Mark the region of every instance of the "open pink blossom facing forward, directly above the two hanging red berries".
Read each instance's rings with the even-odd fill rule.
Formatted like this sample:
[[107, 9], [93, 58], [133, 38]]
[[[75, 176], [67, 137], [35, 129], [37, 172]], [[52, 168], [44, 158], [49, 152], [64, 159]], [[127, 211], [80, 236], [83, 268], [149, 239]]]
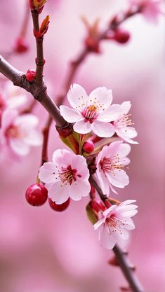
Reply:
[[67, 150], [56, 150], [53, 162], [46, 162], [39, 169], [39, 179], [48, 183], [48, 197], [56, 204], [62, 204], [69, 197], [74, 201], [86, 197], [91, 186], [86, 159]]

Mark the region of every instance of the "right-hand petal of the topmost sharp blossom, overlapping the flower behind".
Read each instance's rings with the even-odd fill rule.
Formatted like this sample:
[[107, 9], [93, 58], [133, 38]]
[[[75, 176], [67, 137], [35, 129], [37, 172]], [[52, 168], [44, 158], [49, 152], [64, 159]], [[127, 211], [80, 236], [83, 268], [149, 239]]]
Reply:
[[102, 122], [112, 122], [121, 116], [121, 106], [119, 104], [112, 104], [105, 111], [102, 111], [97, 120]]

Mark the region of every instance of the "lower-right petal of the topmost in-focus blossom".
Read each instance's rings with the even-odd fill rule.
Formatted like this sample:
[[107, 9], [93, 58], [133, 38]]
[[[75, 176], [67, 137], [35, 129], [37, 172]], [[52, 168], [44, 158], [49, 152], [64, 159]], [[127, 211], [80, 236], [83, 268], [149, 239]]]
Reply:
[[98, 137], [112, 137], [114, 134], [114, 126], [111, 123], [103, 123], [99, 120], [93, 122], [92, 130]]

